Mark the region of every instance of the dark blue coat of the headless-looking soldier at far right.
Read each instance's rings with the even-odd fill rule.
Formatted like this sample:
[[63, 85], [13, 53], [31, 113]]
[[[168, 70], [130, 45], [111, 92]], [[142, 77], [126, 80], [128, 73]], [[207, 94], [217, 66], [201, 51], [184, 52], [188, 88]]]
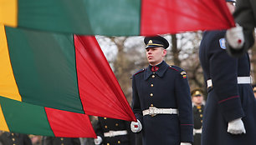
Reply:
[[[205, 79], [212, 79], [203, 112], [202, 145], [256, 143], [256, 100], [248, 84], [238, 77], [250, 76], [248, 54], [235, 58], [225, 51], [225, 31], [204, 32], [199, 49]], [[246, 134], [227, 132], [228, 122], [243, 117]]]

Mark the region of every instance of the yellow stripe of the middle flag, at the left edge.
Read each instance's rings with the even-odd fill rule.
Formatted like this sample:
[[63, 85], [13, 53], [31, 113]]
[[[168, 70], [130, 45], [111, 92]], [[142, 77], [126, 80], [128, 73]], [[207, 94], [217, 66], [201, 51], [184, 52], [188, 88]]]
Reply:
[[13, 75], [5, 29], [0, 24], [0, 96], [22, 101]]

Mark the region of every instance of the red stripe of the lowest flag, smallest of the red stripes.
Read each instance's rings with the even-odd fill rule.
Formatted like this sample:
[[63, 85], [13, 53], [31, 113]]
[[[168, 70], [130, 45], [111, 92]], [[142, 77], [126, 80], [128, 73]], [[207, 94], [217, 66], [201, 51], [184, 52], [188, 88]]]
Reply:
[[55, 137], [96, 138], [88, 115], [44, 107]]

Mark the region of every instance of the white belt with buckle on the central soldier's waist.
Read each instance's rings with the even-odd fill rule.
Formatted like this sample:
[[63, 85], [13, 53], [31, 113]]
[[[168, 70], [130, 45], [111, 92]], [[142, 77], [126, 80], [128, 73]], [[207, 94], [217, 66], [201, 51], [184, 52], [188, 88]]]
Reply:
[[151, 115], [155, 116], [157, 114], [177, 114], [178, 110], [176, 108], [157, 108], [157, 107], [149, 107], [146, 110], [142, 111], [143, 116]]

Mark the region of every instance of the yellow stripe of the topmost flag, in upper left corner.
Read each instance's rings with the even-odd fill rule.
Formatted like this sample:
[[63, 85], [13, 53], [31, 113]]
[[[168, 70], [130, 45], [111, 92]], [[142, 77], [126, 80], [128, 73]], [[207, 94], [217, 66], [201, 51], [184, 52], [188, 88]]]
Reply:
[[17, 0], [0, 0], [0, 23], [11, 27], [17, 27], [17, 15]]

